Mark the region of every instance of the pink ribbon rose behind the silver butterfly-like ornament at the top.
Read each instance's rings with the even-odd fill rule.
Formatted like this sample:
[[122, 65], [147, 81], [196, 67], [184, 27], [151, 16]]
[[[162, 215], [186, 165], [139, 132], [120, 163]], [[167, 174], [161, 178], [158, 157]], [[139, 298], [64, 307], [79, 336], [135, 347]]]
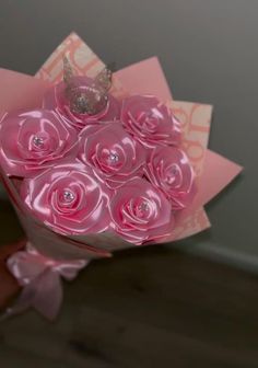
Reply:
[[[97, 122], [119, 119], [119, 102], [112, 94], [103, 97], [95, 96], [94, 80], [87, 77], [73, 77], [73, 83], [77, 91], [71, 97], [69, 97], [67, 85], [63, 82], [50, 88], [44, 97], [44, 107], [57, 111], [69, 124], [78, 129], [82, 129], [89, 124], [96, 124]], [[95, 104], [96, 114], [77, 111], [77, 108], [80, 110], [79, 107], [83, 111], [83, 104], [87, 97], [91, 101], [97, 99]], [[75, 106], [77, 108], [74, 108]]]

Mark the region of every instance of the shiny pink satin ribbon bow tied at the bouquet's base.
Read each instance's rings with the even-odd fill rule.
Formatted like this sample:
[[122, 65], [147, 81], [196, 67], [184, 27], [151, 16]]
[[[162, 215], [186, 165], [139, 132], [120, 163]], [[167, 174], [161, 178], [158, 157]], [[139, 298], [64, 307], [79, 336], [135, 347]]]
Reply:
[[23, 290], [16, 303], [9, 308], [2, 319], [35, 308], [40, 314], [54, 320], [62, 303], [61, 277], [73, 280], [90, 261], [55, 261], [39, 254], [32, 244], [14, 253], [7, 262], [11, 274]]

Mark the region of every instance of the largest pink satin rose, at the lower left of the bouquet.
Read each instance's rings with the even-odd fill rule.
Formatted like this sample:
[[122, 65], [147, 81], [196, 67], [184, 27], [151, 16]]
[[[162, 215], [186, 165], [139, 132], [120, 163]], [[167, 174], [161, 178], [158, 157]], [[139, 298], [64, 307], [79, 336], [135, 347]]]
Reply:
[[21, 197], [38, 220], [58, 233], [98, 233], [110, 222], [107, 188], [79, 161], [24, 180]]

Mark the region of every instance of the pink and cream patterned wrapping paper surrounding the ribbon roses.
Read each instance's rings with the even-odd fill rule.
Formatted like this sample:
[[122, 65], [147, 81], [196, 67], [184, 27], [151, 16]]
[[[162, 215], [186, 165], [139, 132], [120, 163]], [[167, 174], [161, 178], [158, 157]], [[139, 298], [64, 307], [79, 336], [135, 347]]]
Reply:
[[[72, 68], [78, 74], [94, 77], [104, 68], [103, 61], [73, 33], [43, 65], [36, 73], [36, 78], [0, 69], [1, 87], [3, 87], [0, 90], [0, 116], [7, 111], [20, 107], [32, 110], [40, 106], [46, 89], [50, 83], [57, 83], [62, 79], [63, 54], [69, 57]], [[242, 170], [236, 163], [207, 149], [212, 106], [173, 100], [156, 57], [116, 72], [112, 93], [118, 97], [130, 94], [154, 94], [173, 108], [183, 124], [183, 148], [197, 173], [198, 194], [192, 205], [181, 211], [177, 226], [166, 242], [184, 239], [209, 228], [210, 221], [203, 206]], [[54, 233], [28, 216], [23, 208], [14, 183], [5, 177], [4, 173], [1, 175], [26, 235], [39, 253], [55, 260], [92, 260], [110, 256], [112, 251], [132, 246], [110, 233], [86, 237], [63, 237]], [[17, 289], [17, 285], [13, 283], [13, 287], [8, 289], [11, 295]], [[7, 295], [9, 296], [9, 292]], [[3, 300], [0, 300], [0, 304], [2, 302]]]

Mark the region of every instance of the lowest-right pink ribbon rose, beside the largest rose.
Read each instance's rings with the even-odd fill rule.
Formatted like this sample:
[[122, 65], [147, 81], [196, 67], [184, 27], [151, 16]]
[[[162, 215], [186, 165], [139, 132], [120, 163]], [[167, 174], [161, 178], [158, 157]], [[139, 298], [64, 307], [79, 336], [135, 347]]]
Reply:
[[169, 200], [146, 180], [132, 179], [112, 198], [112, 227], [137, 245], [165, 238], [174, 229]]

